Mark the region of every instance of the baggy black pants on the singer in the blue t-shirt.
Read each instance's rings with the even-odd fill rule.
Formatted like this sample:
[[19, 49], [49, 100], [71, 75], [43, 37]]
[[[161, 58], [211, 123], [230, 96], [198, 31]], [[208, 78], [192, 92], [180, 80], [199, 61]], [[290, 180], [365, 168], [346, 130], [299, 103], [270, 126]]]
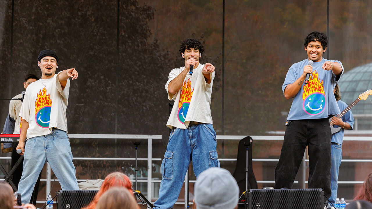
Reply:
[[286, 127], [279, 162], [275, 167], [275, 189], [292, 188], [308, 146], [308, 188], [324, 189], [331, 196], [331, 129], [329, 120], [292, 120]]

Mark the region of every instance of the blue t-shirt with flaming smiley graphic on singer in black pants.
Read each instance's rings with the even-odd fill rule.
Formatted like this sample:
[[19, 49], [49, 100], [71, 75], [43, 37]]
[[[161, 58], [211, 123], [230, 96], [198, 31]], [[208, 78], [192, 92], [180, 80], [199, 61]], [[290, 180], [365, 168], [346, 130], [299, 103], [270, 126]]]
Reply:
[[[323, 70], [322, 65], [325, 61], [340, 63], [342, 73], [336, 76], [332, 70]], [[282, 86], [283, 93], [288, 84], [294, 83], [302, 75], [305, 65], [308, 65], [308, 59], [289, 68]], [[340, 113], [333, 89], [344, 72], [342, 63], [323, 58], [320, 62], [314, 62], [312, 70], [308, 84], [302, 83], [301, 89], [294, 97], [287, 120], [329, 118]]]

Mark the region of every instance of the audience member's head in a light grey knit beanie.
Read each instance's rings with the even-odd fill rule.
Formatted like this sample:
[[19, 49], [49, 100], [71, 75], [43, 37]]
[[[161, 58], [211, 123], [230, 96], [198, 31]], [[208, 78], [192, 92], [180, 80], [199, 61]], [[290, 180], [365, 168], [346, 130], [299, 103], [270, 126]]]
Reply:
[[197, 209], [234, 209], [238, 207], [239, 187], [224, 168], [208, 168], [199, 174], [194, 189]]

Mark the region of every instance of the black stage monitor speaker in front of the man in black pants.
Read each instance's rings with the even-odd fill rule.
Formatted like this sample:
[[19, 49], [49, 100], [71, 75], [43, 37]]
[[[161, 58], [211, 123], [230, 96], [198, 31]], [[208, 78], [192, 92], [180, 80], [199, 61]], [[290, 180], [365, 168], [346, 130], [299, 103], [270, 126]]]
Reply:
[[324, 209], [322, 189], [251, 189], [249, 209]]

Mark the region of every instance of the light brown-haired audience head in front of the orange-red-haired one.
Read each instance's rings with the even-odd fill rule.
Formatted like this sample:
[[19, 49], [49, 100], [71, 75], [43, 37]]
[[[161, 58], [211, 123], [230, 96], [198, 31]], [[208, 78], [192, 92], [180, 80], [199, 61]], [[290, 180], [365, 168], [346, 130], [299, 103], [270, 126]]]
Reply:
[[97, 202], [96, 209], [140, 209], [133, 192], [123, 187], [111, 187]]

